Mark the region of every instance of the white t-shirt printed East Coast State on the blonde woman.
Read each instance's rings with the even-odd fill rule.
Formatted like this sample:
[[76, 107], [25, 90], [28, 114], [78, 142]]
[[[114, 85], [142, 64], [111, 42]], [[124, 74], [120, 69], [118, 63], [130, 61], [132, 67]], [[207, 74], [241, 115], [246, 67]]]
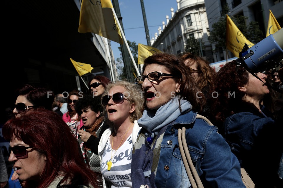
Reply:
[[[111, 169], [107, 170], [107, 162], [111, 160], [110, 137], [106, 143], [101, 160], [101, 174], [105, 180], [112, 183], [111, 187], [132, 187], [131, 161], [132, 161], [132, 135], [118, 148], [112, 151], [113, 160]], [[116, 153], [115, 153], [116, 152]], [[115, 155], [114, 155], [115, 153]]]

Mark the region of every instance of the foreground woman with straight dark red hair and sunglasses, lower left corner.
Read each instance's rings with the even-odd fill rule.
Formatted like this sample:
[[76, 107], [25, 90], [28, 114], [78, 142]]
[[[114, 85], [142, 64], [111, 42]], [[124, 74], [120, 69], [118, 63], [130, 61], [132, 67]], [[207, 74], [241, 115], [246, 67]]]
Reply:
[[13, 118], [3, 126], [3, 136], [24, 187], [97, 187], [96, 174], [72, 149], [77, 141], [56, 113], [39, 109]]

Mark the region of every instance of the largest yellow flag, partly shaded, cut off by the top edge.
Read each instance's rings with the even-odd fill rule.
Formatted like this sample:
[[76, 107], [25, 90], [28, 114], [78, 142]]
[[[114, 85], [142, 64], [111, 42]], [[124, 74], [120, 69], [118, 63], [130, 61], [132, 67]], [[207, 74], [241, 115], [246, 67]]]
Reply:
[[80, 8], [79, 33], [96, 33], [123, 44], [121, 32], [112, 12], [111, 0], [83, 0]]

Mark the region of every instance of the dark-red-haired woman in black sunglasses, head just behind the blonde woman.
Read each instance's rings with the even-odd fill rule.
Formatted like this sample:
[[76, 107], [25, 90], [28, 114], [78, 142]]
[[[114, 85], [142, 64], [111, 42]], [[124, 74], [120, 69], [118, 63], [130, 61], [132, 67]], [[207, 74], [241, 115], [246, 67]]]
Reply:
[[91, 95], [99, 96], [104, 92], [106, 85], [110, 80], [105, 76], [94, 76], [88, 84], [88, 88], [91, 91]]

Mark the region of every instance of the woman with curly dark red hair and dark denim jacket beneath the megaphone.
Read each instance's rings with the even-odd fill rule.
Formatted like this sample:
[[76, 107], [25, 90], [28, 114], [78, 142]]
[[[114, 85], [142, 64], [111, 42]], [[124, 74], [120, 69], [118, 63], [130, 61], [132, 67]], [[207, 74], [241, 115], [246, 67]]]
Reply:
[[[219, 132], [256, 187], [283, 187], [277, 175], [283, 149], [282, 121], [279, 125], [261, 105], [269, 93], [267, 76], [260, 72], [256, 75], [261, 80], [236, 61], [223, 66], [213, 84], [218, 97], [212, 113]], [[274, 150], [270, 150], [272, 145]]]

